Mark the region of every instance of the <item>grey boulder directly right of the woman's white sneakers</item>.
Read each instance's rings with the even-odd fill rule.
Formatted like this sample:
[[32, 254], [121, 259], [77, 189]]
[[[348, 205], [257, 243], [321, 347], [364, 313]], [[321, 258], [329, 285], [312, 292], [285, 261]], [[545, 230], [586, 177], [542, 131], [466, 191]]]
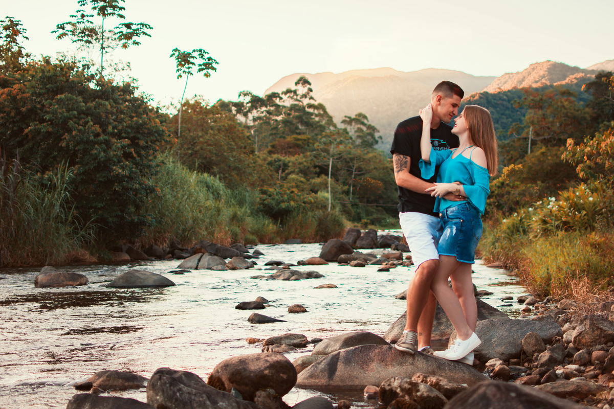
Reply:
[[[475, 357], [480, 362], [493, 358], [509, 361], [520, 357], [523, 338], [529, 332], [537, 332], [544, 343], [551, 343], [554, 337], [562, 337], [559, 324], [551, 315], [539, 315], [533, 319], [486, 319], [478, 321], [475, 333], [481, 345], [475, 349]], [[456, 339], [456, 332], [450, 336], [449, 345]]]

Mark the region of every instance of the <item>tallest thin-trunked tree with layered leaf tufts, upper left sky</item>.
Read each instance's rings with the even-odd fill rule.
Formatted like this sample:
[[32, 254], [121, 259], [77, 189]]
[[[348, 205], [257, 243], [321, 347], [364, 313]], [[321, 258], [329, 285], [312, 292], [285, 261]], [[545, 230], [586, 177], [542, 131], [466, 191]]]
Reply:
[[[53, 34], [58, 33], [58, 40], [69, 37], [73, 43], [82, 47], [99, 47], [100, 75], [103, 75], [104, 55], [109, 53], [109, 49], [113, 51], [118, 47], [126, 49], [131, 45], [140, 45], [139, 37], [151, 37], [146, 30], [153, 28], [146, 23], [120, 23], [113, 29], [104, 29], [107, 18], [126, 19], [122, 14], [126, 8], [120, 6], [120, 2], [123, 3], [124, 0], [77, 0], [79, 7], [91, 6], [95, 14], [87, 14], [84, 9], [79, 9], [70, 16], [71, 21], [56, 25], [52, 31]], [[95, 15], [100, 18], [100, 25], [95, 25], [90, 20]]]

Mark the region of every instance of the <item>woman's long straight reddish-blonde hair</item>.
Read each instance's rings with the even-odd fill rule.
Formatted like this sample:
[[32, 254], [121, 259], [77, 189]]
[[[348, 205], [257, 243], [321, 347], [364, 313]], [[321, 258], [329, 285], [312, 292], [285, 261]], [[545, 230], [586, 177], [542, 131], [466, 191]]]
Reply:
[[488, 174], [496, 175], [499, 167], [499, 153], [491, 113], [488, 109], [478, 105], [467, 105], [462, 111], [462, 115], [465, 117], [465, 124], [467, 124], [473, 144], [482, 148], [486, 154]]

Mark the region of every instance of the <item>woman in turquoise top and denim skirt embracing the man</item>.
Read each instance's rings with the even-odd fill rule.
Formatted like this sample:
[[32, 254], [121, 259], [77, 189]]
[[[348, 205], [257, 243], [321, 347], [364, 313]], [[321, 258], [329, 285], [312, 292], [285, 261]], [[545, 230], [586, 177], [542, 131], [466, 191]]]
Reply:
[[[482, 235], [480, 216], [486, 207], [489, 180], [497, 173], [497, 138], [488, 110], [467, 105], [456, 118], [452, 130], [459, 137], [454, 150], [435, 150], [430, 143], [432, 107], [420, 111], [422, 126], [420, 169], [423, 178], [432, 177], [439, 166], [437, 183], [427, 189], [437, 197], [435, 212], [440, 212], [443, 234], [437, 247], [439, 267], [431, 284], [431, 291], [456, 329], [457, 339], [452, 348], [438, 351], [451, 361], [473, 363], [473, 350], [481, 341], [475, 334], [477, 306], [473, 296], [471, 265], [475, 262], [475, 248]], [[456, 182], [456, 183], [454, 183]], [[460, 183], [460, 184], [459, 184]], [[443, 199], [448, 192], [467, 197], [461, 202]], [[448, 286], [452, 279], [453, 288]]]

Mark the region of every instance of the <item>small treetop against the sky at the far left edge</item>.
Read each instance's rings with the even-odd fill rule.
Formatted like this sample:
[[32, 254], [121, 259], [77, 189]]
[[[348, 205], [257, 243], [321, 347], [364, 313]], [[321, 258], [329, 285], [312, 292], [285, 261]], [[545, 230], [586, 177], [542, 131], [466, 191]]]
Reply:
[[25, 36], [27, 31], [21, 26], [21, 20], [15, 20], [7, 16], [0, 20], [2, 26], [2, 45], [0, 45], [0, 74], [16, 72], [23, 67], [25, 59], [31, 57], [30, 53], [24, 52], [25, 48], [20, 40], [28, 40]]

